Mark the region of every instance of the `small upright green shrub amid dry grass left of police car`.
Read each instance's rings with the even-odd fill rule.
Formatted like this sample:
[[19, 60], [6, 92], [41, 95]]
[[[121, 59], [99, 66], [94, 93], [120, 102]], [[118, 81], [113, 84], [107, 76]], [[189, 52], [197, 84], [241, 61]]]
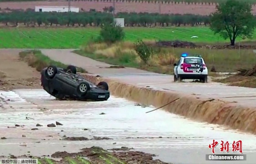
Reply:
[[141, 60], [147, 64], [148, 60], [150, 59], [153, 50], [151, 46], [147, 46], [143, 41], [137, 41], [135, 43], [135, 51], [140, 56]]

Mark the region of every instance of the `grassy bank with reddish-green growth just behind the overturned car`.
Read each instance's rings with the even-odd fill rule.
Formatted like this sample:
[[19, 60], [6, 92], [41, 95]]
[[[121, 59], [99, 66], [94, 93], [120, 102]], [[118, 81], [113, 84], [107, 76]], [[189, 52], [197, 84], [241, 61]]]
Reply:
[[[57, 67], [63, 68], [68, 67], [68, 65], [65, 65], [61, 62], [53, 61], [38, 50], [22, 51], [19, 53], [19, 56], [22, 60], [27, 62], [29, 66], [36, 68], [37, 71], [41, 71], [43, 68], [48, 67], [49, 65], [55, 65]], [[82, 73], [86, 72], [83, 68], [80, 67], [77, 67], [77, 71]]]

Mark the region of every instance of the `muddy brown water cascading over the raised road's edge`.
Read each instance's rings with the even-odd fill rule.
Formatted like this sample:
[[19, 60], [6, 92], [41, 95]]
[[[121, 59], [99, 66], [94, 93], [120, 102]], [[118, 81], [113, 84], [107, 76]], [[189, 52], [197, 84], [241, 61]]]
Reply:
[[172, 91], [137, 87], [109, 78], [91, 75], [85, 75], [85, 77], [94, 83], [108, 82], [112, 95], [124, 97], [143, 105], [161, 107], [179, 98], [162, 109], [193, 120], [225, 125], [233, 129], [256, 134], [256, 108], [238, 106], [232, 104], [232, 102], [214, 98], [199, 98], [196, 95], [184, 95]]

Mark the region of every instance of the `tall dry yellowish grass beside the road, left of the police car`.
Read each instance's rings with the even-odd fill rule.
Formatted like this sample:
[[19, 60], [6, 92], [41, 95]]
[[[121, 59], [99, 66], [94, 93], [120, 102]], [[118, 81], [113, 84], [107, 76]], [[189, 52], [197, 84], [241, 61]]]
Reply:
[[[146, 41], [146, 44], [153, 44], [155, 41]], [[105, 43], [89, 44], [82, 46], [79, 55], [88, 56], [101, 62], [125, 67], [136, 67], [157, 73], [172, 73], [173, 64], [178, 60], [170, 51], [155, 52], [147, 65], [141, 62], [140, 57], [134, 50], [134, 43], [120, 42], [108, 46]]]

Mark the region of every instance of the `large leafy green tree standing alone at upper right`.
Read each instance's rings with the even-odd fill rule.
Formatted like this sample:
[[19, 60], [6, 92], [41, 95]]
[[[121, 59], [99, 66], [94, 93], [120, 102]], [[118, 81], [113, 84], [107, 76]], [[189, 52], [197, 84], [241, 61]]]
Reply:
[[251, 4], [246, 1], [227, 0], [220, 3], [217, 11], [211, 15], [210, 29], [219, 33], [224, 39], [230, 39], [230, 45], [235, 45], [237, 36], [251, 38], [256, 21], [251, 14]]

